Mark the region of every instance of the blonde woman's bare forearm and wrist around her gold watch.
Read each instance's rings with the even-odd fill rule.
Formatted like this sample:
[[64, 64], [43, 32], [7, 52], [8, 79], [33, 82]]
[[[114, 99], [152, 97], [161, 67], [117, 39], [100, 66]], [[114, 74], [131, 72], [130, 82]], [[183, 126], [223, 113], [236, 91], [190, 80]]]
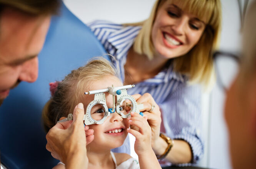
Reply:
[[[165, 152], [168, 144], [165, 140], [159, 137], [155, 145], [152, 146], [156, 155], [160, 156]], [[166, 155], [165, 159], [173, 164], [191, 162], [192, 152], [190, 145], [184, 140], [174, 140], [174, 145]]]

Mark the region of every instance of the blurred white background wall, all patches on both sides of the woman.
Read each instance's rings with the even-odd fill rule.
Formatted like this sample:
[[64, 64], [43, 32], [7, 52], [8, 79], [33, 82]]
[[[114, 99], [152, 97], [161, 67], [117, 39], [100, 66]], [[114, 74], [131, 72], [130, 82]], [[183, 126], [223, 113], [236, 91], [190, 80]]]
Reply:
[[[145, 20], [155, 0], [64, 0], [64, 2], [84, 23], [98, 19], [129, 23]], [[238, 2], [237, 0], [221, 0], [221, 2], [223, 29], [220, 48], [235, 52], [240, 49]], [[216, 169], [231, 168], [228, 136], [223, 119], [223, 102], [224, 94], [218, 86], [214, 87], [210, 97], [207, 94], [203, 96], [202, 132], [205, 140], [205, 155], [200, 166]]]

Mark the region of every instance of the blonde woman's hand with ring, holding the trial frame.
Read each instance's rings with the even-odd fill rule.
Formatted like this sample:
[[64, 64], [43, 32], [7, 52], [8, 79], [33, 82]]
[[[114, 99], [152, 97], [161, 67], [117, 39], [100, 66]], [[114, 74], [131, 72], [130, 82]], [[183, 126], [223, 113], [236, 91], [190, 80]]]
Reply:
[[[161, 126], [161, 112], [159, 106], [156, 104], [155, 100], [149, 93], [145, 93], [142, 96], [140, 94], [132, 95], [138, 104], [143, 104], [143, 117], [148, 118], [148, 123], [152, 131], [152, 141], [151, 146], [154, 147], [158, 139], [160, 138], [160, 126]], [[153, 108], [152, 108], [153, 107]], [[152, 110], [153, 109], [153, 110]]]

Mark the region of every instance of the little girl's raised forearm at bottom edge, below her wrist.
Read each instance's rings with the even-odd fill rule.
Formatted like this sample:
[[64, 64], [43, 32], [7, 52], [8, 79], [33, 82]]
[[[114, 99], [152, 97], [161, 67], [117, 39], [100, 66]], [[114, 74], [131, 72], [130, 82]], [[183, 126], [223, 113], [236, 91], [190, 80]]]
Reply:
[[161, 166], [152, 148], [150, 148], [147, 153], [138, 155], [138, 158], [140, 169], [161, 169]]

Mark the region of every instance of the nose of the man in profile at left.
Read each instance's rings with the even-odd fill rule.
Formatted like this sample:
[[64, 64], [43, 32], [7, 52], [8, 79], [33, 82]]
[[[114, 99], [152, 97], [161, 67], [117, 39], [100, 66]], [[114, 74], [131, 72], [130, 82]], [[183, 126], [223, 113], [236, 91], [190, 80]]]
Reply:
[[19, 80], [29, 83], [35, 82], [38, 77], [38, 57], [23, 63]]

